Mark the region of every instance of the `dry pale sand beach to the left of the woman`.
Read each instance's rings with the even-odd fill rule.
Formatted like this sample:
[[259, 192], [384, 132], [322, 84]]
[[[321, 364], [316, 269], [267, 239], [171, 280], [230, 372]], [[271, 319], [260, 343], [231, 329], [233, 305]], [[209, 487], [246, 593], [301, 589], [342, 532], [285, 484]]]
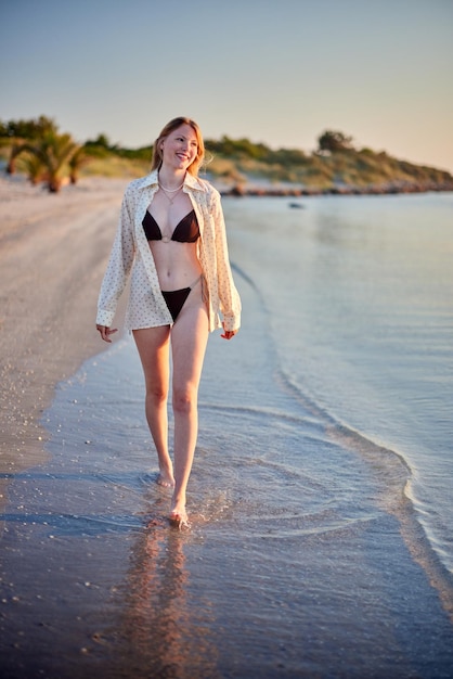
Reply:
[[0, 176], [3, 483], [47, 459], [40, 419], [55, 385], [107, 346], [95, 307], [126, 184], [90, 178], [50, 194], [23, 177]]

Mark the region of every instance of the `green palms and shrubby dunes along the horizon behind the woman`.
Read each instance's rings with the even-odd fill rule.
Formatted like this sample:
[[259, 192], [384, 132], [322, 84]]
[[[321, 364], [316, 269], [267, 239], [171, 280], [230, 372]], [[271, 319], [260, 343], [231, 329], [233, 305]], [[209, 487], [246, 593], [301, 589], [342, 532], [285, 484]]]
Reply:
[[[328, 190], [335, 187], [438, 187], [451, 190], [453, 178], [444, 170], [413, 165], [392, 158], [385, 152], [357, 149], [352, 137], [340, 131], [325, 130], [318, 138], [313, 153], [300, 149], [273, 150], [264, 143], [246, 138], [205, 140], [207, 168], [213, 176], [233, 181], [247, 181], [247, 175], [262, 176], [271, 181], [287, 181]], [[111, 142], [105, 133], [85, 143], [61, 132], [47, 116], [35, 119], [0, 120], [0, 146], [7, 149], [7, 171], [21, 170], [33, 183], [46, 182], [49, 191], [57, 192], [65, 181], [76, 183], [80, 170], [93, 159], [115, 157], [140, 162], [146, 171], [151, 164], [152, 145], [125, 149]], [[209, 159], [213, 158], [212, 163]], [[238, 179], [237, 179], [238, 178]], [[444, 189], [446, 187], [446, 189]]]

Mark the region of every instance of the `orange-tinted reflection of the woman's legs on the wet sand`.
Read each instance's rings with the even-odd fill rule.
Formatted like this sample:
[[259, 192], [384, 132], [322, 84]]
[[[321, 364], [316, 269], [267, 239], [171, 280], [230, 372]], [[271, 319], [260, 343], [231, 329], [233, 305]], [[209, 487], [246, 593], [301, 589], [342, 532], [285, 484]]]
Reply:
[[119, 676], [134, 679], [217, 677], [213, 616], [209, 602], [191, 591], [185, 564], [193, 536], [170, 527], [165, 510], [148, 514], [132, 548], [116, 672], [120, 664]]

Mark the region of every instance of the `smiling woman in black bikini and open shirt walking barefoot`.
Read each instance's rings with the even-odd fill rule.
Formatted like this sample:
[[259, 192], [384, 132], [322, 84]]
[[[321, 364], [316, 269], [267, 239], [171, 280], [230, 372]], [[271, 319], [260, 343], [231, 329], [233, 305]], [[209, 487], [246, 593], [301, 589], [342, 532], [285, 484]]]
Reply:
[[[132, 181], [99, 297], [96, 329], [111, 342], [117, 302], [130, 274], [126, 325], [143, 366], [146, 420], [157, 450], [157, 483], [173, 488], [170, 521], [187, 525], [185, 492], [195, 451], [197, 394], [208, 333], [241, 324], [220, 195], [198, 178], [204, 143], [196, 123], [170, 120], [153, 149], [152, 171]], [[220, 313], [222, 320], [220, 319]], [[170, 347], [174, 466], [168, 450]]]

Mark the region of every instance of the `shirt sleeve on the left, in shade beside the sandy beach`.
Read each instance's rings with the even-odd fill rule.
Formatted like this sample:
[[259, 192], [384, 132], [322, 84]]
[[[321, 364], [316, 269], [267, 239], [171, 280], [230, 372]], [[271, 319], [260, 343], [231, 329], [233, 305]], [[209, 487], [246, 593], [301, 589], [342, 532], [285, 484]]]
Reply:
[[107, 328], [112, 325], [118, 299], [126, 287], [135, 256], [133, 210], [130, 203], [130, 194], [126, 190], [115, 241], [98, 299], [98, 325]]

